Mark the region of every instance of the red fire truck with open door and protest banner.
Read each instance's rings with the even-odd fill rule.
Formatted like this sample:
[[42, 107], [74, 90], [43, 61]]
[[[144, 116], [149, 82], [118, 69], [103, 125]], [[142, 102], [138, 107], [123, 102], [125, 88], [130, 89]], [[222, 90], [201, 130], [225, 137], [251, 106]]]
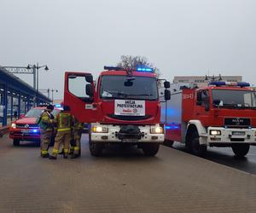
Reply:
[[[160, 125], [158, 79], [149, 68], [104, 66], [97, 83], [88, 72], [66, 72], [64, 105], [89, 123], [89, 146], [99, 156], [107, 144], [133, 144], [154, 156], [165, 139]], [[170, 98], [169, 82], [164, 83]]]

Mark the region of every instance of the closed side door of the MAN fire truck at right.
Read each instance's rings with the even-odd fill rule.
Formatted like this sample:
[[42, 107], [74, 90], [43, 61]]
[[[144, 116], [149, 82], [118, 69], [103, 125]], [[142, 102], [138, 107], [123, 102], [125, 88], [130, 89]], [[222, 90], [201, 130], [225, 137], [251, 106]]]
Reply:
[[195, 117], [201, 120], [203, 124], [206, 124], [209, 119], [210, 109], [210, 96], [209, 90], [203, 89], [197, 92], [197, 100], [195, 107]]

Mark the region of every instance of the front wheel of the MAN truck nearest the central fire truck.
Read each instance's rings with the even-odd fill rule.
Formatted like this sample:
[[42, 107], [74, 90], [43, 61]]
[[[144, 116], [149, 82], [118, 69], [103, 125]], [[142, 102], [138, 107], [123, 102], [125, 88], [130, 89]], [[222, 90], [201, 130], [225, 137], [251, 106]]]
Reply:
[[197, 156], [204, 156], [207, 153], [207, 146], [199, 144], [199, 136], [197, 132], [191, 134], [189, 151]]

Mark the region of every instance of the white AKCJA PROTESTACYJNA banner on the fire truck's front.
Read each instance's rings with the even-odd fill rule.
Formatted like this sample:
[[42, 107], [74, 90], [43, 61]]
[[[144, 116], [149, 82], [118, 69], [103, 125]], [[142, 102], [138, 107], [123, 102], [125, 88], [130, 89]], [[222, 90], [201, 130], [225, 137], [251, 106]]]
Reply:
[[144, 116], [145, 101], [114, 100], [114, 114], [126, 116]]

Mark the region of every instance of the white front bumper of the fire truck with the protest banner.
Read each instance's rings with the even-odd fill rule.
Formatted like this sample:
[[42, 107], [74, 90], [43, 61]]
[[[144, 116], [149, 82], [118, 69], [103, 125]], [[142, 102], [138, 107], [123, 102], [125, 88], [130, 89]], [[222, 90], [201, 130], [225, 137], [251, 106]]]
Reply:
[[165, 135], [164, 129], [159, 124], [143, 126], [91, 124], [90, 139], [91, 141], [107, 143], [163, 143]]

